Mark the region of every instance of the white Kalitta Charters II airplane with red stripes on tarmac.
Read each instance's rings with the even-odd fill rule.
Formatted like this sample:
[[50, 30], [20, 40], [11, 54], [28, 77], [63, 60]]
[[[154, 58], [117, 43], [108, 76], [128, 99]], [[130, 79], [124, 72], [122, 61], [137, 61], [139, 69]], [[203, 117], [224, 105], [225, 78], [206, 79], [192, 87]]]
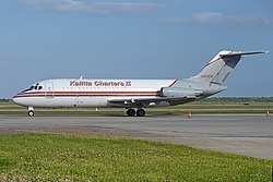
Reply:
[[219, 51], [198, 74], [182, 80], [45, 80], [15, 95], [13, 102], [27, 107], [29, 117], [34, 108], [75, 107], [119, 107], [129, 117], [144, 117], [149, 107], [183, 105], [225, 90], [224, 82], [241, 58], [258, 53], [266, 51]]

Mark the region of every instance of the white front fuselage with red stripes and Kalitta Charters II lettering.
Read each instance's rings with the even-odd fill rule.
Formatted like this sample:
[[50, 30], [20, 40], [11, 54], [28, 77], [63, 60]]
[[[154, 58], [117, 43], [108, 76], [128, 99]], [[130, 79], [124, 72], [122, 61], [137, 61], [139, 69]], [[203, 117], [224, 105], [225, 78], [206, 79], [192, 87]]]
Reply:
[[155, 98], [177, 80], [46, 80], [13, 97], [25, 107], [112, 107], [111, 99]]

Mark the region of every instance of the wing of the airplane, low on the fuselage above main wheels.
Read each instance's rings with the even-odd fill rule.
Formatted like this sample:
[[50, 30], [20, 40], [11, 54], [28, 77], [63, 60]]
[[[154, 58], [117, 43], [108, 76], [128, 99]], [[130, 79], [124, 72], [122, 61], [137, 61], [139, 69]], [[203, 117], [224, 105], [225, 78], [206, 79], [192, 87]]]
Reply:
[[110, 99], [108, 104], [116, 107], [143, 108], [158, 105], [182, 105], [195, 100], [197, 96], [185, 97], [151, 97], [151, 98], [130, 98], [130, 99]]

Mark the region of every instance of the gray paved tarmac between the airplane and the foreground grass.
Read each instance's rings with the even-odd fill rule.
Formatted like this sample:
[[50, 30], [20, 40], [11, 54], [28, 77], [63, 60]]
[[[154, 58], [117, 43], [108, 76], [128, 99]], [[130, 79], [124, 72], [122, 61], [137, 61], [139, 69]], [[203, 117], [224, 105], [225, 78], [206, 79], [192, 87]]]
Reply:
[[265, 114], [0, 116], [0, 134], [64, 133], [106, 135], [187, 145], [273, 159], [273, 117]]

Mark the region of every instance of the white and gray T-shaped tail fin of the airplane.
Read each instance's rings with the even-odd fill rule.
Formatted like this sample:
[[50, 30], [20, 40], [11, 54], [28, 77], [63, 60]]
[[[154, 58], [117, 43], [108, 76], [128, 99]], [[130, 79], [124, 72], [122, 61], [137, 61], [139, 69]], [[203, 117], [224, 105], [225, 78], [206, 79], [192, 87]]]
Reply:
[[235, 69], [237, 63], [244, 56], [266, 53], [265, 51], [230, 51], [223, 50], [218, 52], [204, 69], [192, 76], [191, 80], [198, 80], [209, 83], [215, 83], [222, 85], [228, 74]]

